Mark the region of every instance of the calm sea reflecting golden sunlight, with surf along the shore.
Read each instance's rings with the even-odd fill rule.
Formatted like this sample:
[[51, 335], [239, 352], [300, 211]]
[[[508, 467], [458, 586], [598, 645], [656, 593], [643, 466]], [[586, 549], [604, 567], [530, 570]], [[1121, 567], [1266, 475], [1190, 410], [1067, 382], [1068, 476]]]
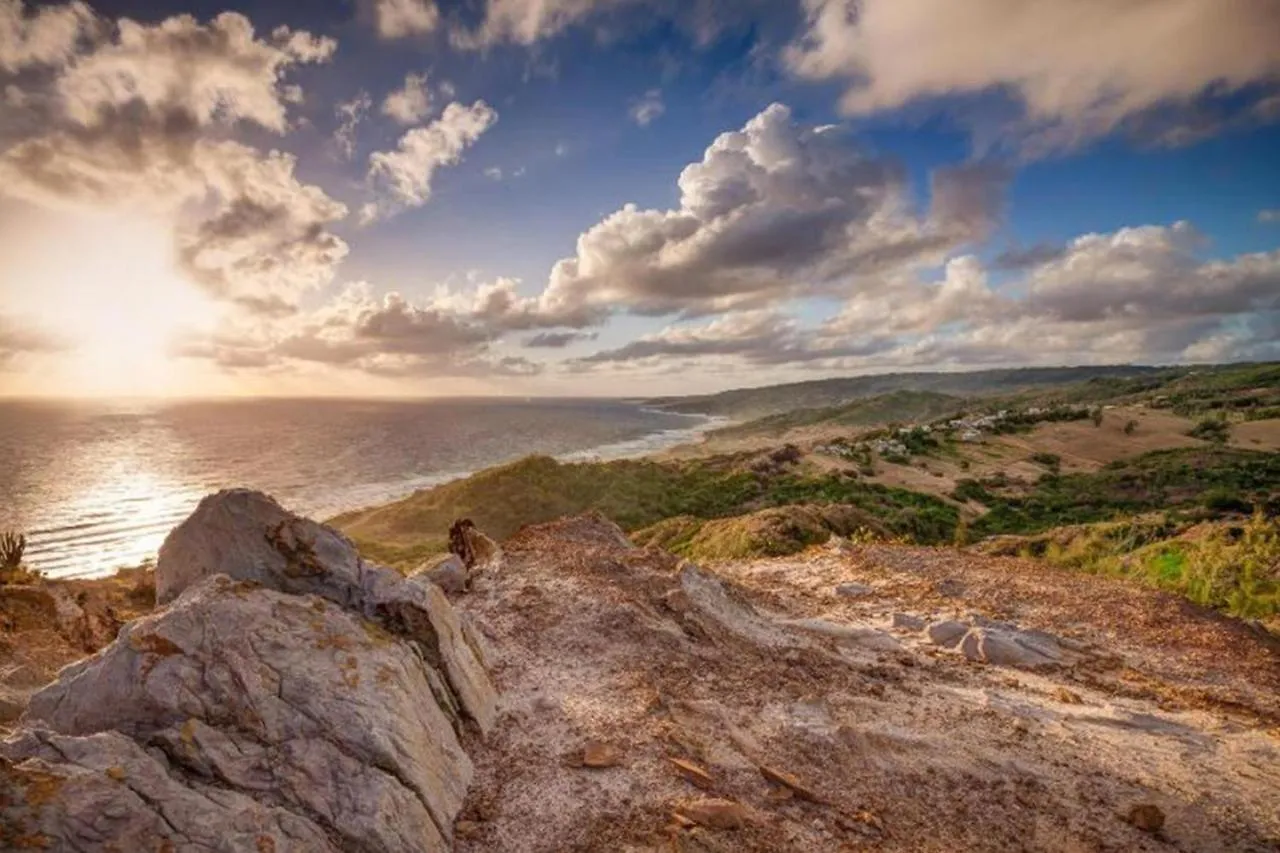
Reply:
[[640, 456], [712, 421], [602, 400], [0, 402], [0, 530], [28, 566], [95, 576], [152, 558], [201, 497], [262, 489], [316, 519], [548, 453]]

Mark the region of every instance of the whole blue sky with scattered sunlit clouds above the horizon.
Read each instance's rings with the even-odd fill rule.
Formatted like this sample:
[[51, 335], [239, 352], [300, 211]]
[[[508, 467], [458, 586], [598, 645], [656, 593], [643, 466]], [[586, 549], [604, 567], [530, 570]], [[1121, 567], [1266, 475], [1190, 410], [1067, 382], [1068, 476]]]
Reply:
[[1280, 359], [1280, 0], [0, 0], [0, 396]]

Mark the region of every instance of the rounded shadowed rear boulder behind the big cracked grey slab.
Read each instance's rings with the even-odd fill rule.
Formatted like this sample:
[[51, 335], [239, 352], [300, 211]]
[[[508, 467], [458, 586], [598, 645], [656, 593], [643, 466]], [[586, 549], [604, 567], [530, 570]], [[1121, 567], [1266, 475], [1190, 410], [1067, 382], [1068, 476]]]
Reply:
[[156, 562], [156, 598], [173, 601], [211, 575], [297, 596], [320, 596], [360, 612], [419, 646], [443, 675], [440, 689], [488, 731], [497, 694], [462, 621], [434, 583], [365, 562], [347, 537], [284, 510], [248, 489], [206, 497], [165, 539]]

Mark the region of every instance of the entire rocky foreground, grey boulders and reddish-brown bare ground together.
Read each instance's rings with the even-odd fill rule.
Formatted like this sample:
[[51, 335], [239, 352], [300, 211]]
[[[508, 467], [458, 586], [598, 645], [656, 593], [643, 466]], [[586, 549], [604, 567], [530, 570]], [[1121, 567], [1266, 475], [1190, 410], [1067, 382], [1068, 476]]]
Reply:
[[207, 500], [160, 610], [0, 743], [0, 848], [1280, 849], [1280, 644], [1183, 599], [844, 540], [694, 566], [595, 516], [476, 553], [402, 580]]

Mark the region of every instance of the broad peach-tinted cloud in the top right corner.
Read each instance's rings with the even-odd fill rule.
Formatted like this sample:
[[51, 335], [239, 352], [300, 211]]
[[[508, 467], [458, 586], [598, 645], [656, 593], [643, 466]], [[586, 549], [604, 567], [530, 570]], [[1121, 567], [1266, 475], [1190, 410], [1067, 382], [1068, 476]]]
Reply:
[[1280, 78], [1272, 3], [805, 0], [805, 8], [806, 27], [785, 63], [808, 79], [847, 81], [845, 114], [998, 90], [1020, 102], [1020, 131], [1042, 150]]

